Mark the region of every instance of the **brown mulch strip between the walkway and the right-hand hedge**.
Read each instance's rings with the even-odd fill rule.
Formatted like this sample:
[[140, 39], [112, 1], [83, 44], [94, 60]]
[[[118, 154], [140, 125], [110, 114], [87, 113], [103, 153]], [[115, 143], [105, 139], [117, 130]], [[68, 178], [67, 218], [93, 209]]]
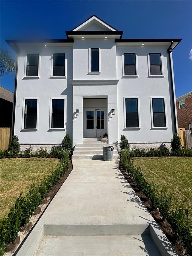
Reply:
[[167, 221], [163, 221], [161, 214], [158, 209], [153, 209], [153, 207], [150, 205], [149, 198], [143, 193], [143, 191], [137, 186], [136, 182], [134, 181], [133, 177], [131, 177], [127, 172], [123, 169], [121, 163], [119, 164], [119, 170], [124, 175], [127, 182], [131, 185], [137, 196], [140, 198], [142, 203], [145, 205], [149, 213], [152, 215], [154, 220], [157, 222], [157, 224], [162, 229], [163, 233], [166, 235], [166, 237], [169, 239], [169, 241], [174, 246], [175, 250], [180, 256], [185, 255], [185, 249], [183, 248], [182, 244], [179, 241], [175, 241], [172, 228], [169, 225]]

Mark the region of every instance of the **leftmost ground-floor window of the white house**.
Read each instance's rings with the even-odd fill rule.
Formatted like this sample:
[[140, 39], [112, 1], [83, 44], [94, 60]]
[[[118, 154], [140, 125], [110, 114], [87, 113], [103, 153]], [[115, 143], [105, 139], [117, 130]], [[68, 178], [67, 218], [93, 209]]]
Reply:
[[25, 100], [24, 129], [37, 128], [37, 99]]

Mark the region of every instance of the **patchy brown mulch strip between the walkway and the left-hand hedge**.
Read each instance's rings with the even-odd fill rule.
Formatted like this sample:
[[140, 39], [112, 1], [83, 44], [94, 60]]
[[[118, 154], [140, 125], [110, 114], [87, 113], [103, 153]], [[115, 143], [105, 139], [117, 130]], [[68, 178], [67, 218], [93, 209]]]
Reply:
[[[47, 204], [48, 202], [51, 202], [51, 199], [56, 195], [57, 191], [60, 189], [60, 187], [63, 185], [63, 183], [65, 182], [65, 180], [67, 179], [67, 177], [69, 176], [69, 174], [71, 173], [71, 171], [73, 170], [73, 166], [72, 166], [72, 162], [70, 160], [70, 164], [69, 164], [69, 168], [66, 171], [66, 173], [61, 177], [61, 179], [59, 180], [59, 182], [57, 182], [55, 184], [55, 186], [53, 188], [51, 188], [51, 190], [46, 194], [45, 198], [41, 201], [40, 204]], [[47, 205], [48, 206], [48, 205]], [[41, 208], [37, 207], [36, 211], [33, 213], [33, 215], [37, 215], [41, 212]], [[43, 212], [42, 212], [43, 213]], [[39, 220], [39, 219], [38, 219]], [[29, 222], [27, 223], [25, 226], [20, 228], [21, 232], [29, 232], [32, 228], [32, 223]], [[6, 252], [13, 252], [16, 247], [18, 246], [18, 244], [20, 243], [20, 237], [18, 236], [14, 243], [9, 243], [6, 244]]]

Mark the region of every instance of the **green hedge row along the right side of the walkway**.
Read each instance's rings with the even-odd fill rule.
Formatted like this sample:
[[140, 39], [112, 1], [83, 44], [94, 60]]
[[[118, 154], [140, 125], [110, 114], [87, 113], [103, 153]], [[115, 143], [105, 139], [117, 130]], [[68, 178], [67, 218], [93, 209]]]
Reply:
[[[163, 191], [157, 193], [155, 184], [146, 181], [141, 168], [136, 167], [130, 159], [129, 150], [121, 152], [121, 163], [125, 171], [127, 171], [137, 183], [138, 187], [148, 196], [151, 206], [159, 209], [163, 220], [167, 220], [172, 227], [173, 235], [179, 240], [186, 250], [186, 255], [192, 252], [192, 216], [189, 209], [176, 207], [171, 209], [171, 195], [166, 195]], [[190, 215], [190, 216], [189, 216]]]

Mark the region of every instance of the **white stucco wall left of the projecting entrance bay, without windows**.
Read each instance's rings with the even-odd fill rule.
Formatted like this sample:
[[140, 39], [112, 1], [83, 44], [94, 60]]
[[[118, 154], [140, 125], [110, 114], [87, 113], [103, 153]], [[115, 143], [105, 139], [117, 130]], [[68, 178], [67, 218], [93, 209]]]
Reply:
[[[39, 53], [40, 55], [40, 78], [24, 79], [25, 56], [28, 53]], [[67, 60], [67, 75], [62, 79], [50, 79], [51, 77], [51, 56], [53, 53], [65, 53]], [[34, 50], [25, 49], [19, 54], [18, 59], [18, 76], [17, 76], [17, 93], [15, 109], [15, 129], [14, 134], [18, 135], [21, 144], [58, 144], [68, 133], [72, 137], [72, 85], [70, 79], [73, 75], [73, 49], [72, 47], [62, 48], [35, 48]], [[66, 97], [66, 129], [50, 129], [50, 98]], [[38, 130], [22, 129], [23, 119], [23, 99], [39, 99], [39, 117]], [[41, 146], [41, 145], [40, 145]], [[24, 145], [22, 147], [25, 147]], [[48, 146], [47, 146], [48, 147]], [[49, 148], [49, 147], [48, 147]]]

